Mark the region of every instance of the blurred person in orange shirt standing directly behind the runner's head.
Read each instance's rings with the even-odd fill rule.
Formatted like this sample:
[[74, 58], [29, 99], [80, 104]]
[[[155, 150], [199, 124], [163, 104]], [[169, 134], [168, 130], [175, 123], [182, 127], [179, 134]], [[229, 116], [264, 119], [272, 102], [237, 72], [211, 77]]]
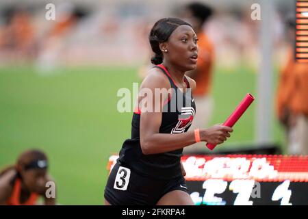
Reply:
[[[213, 101], [210, 96], [212, 67], [214, 62], [214, 46], [204, 32], [204, 26], [213, 11], [202, 3], [190, 3], [185, 5], [182, 17], [194, 28], [198, 37], [198, 62], [195, 70], [187, 73], [189, 77], [196, 81], [196, 90], [193, 92], [196, 103], [196, 116], [190, 129], [207, 127], [213, 110]], [[199, 142], [195, 146], [186, 147], [185, 153], [206, 151], [204, 142]]]

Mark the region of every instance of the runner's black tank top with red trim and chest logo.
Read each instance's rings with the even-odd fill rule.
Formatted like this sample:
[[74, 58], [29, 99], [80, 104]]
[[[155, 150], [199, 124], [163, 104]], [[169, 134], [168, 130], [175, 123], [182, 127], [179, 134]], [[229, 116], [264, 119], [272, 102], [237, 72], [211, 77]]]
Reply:
[[[162, 125], [159, 128], [159, 133], [183, 133], [188, 131], [192, 124], [192, 119], [196, 112], [196, 105], [192, 98], [191, 92], [181, 92], [175, 85], [172, 77], [168, 73], [168, 70], [159, 64], [154, 66], [159, 68], [168, 77], [171, 88], [174, 88], [176, 92], [172, 92], [171, 98], [168, 103], [164, 105], [162, 113]], [[187, 88], [190, 88], [188, 79], [184, 77]], [[187, 96], [189, 94], [190, 96]], [[179, 96], [178, 96], [179, 95]], [[183, 99], [183, 106], [180, 109], [176, 107], [175, 112], [171, 111], [171, 105], [178, 105], [179, 99]], [[166, 110], [165, 107], [168, 107]], [[122, 149], [120, 151], [120, 157], [118, 163], [123, 166], [129, 166], [132, 170], [136, 170], [142, 175], [154, 177], [158, 179], [170, 179], [179, 177], [181, 175], [181, 155], [183, 155], [183, 149], [175, 151], [169, 151], [166, 153], [159, 153], [153, 155], [142, 154], [140, 146], [140, 112], [134, 112], [133, 120], [131, 123], [131, 138], [125, 140]]]

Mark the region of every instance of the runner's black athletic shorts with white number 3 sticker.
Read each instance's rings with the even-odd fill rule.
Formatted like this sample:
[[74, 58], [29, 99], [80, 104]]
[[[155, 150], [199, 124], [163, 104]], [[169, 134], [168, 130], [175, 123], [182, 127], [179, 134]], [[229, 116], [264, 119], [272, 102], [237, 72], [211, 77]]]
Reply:
[[116, 163], [110, 172], [104, 196], [111, 205], [156, 205], [164, 194], [173, 190], [188, 193], [183, 176], [153, 179]]

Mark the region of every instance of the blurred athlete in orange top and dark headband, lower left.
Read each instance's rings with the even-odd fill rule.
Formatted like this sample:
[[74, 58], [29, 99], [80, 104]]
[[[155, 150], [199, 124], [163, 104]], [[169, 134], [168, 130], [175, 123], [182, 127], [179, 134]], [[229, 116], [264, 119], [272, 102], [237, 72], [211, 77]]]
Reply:
[[16, 165], [0, 171], [0, 205], [36, 205], [44, 198], [44, 205], [55, 205], [55, 198], [45, 195], [47, 181], [47, 156], [38, 150], [22, 153]]

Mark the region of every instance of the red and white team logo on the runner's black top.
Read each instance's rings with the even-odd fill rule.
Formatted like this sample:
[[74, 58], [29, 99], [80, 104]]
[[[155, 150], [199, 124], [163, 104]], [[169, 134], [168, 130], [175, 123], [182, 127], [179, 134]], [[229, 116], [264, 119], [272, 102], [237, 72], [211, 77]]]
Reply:
[[171, 130], [171, 133], [183, 133], [187, 127], [192, 125], [194, 114], [196, 114], [196, 112], [193, 107], [182, 107], [181, 114], [179, 114], [179, 121]]

